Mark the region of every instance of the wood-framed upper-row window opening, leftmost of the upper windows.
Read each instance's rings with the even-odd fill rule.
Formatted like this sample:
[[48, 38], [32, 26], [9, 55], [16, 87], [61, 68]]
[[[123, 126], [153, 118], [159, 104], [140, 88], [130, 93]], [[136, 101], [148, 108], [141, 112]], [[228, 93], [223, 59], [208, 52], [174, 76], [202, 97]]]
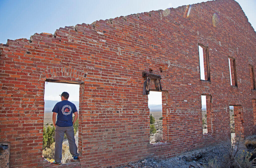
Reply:
[[208, 47], [198, 44], [200, 79], [210, 81], [209, 50]]

